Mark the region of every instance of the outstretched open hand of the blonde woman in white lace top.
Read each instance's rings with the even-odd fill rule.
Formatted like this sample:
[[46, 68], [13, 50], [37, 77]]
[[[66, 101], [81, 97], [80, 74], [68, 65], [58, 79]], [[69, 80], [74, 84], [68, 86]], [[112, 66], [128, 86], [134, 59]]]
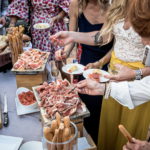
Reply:
[[74, 37], [71, 31], [60, 31], [55, 35], [50, 36], [50, 40], [54, 45], [65, 46], [74, 42]]

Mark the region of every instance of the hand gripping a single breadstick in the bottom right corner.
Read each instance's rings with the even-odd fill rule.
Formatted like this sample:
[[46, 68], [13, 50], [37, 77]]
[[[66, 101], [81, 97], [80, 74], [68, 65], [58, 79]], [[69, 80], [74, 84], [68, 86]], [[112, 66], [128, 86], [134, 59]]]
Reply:
[[150, 150], [150, 143], [133, 138], [133, 143], [128, 142], [123, 146], [123, 150]]

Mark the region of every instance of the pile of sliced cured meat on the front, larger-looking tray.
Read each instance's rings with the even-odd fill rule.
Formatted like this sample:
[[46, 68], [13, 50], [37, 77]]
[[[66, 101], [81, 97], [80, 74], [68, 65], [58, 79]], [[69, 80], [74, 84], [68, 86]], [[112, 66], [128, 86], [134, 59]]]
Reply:
[[40, 107], [45, 109], [47, 118], [53, 118], [56, 112], [63, 116], [71, 116], [83, 112], [85, 105], [74, 90], [68, 94], [72, 86], [67, 80], [57, 80], [50, 84], [44, 82], [36, 90], [41, 98]]

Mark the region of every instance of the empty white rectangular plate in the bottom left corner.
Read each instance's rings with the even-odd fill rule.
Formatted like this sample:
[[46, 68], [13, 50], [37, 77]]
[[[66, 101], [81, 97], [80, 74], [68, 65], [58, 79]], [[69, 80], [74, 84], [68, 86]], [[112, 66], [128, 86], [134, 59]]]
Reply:
[[0, 149], [1, 150], [18, 150], [23, 138], [0, 135]]

